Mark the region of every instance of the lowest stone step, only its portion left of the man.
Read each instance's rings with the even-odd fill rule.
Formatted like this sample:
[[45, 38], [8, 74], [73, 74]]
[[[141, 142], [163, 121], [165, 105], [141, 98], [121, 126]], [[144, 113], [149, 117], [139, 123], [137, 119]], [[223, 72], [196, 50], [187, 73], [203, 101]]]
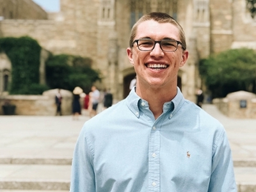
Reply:
[[71, 165], [0, 164], [0, 170], [0, 191], [3, 189], [68, 191], [70, 188]]

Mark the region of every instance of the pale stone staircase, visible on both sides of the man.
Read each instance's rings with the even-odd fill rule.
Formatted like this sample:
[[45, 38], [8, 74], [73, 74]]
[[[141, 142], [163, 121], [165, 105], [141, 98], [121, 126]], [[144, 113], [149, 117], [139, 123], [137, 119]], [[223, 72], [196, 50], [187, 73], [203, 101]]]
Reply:
[[[67, 192], [72, 159], [0, 159], [0, 192]], [[234, 161], [238, 192], [256, 191], [256, 161]]]

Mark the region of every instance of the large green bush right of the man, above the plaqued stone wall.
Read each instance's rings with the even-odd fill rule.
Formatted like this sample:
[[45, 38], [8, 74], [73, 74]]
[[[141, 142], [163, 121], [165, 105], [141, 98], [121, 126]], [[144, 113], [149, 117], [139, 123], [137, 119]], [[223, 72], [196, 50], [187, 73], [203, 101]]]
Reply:
[[255, 92], [256, 52], [252, 49], [230, 49], [200, 61], [200, 75], [212, 97], [230, 92]]

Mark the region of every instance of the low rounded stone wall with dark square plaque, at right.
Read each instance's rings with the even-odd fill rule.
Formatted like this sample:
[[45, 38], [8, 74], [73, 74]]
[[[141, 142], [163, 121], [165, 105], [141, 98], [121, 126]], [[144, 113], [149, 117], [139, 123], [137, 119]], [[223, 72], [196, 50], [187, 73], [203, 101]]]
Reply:
[[256, 95], [253, 93], [229, 93], [225, 98], [213, 99], [212, 103], [230, 118], [256, 118]]

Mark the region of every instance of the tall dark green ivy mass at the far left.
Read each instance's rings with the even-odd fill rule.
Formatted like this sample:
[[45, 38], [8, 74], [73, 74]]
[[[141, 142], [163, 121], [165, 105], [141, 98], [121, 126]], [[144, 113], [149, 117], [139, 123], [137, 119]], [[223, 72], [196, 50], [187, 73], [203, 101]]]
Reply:
[[[41, 47], [29, 36], [20, 38], [0, 38], [0, 50], [4, 51], [12, 62], [12, 83], [10, 94], [40, 94], [47, 87], [39, 85], [39, 67]], [[33, 87], [41, 87], [35, 92]]]

